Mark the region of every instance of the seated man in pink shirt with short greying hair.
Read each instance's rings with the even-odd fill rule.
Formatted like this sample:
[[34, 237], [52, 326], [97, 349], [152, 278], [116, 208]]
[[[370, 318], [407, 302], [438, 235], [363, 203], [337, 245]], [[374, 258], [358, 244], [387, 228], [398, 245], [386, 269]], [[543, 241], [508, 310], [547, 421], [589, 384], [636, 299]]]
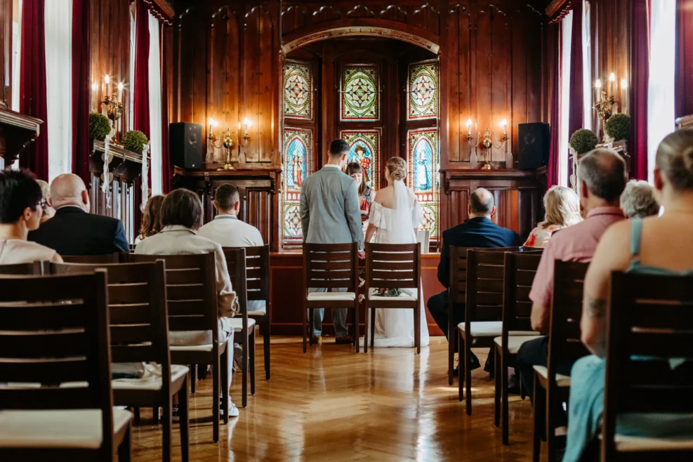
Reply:
[[[620, 197], [626, 187], [626, 162], [619, 154], [603, 148], [590, 152], [580, 162], [578, 178], [580, 206], [585, 220], [553, 233], [541, 255], [532, 291], [529, 292], [532, 300], [532, 329], [545, 335], [524, 343], [517, 352], [517, 369], [530, 399], [534, 397], [534, 366], [546, 366], [548, 361], [546, 335], [553, 298], [555, 260], [592, 260], [599, 239], [607, 227], [625, 219], [620, 207]], [[559, 363], [558, 372], [570, 375], [571, 367], [572, 364]]]

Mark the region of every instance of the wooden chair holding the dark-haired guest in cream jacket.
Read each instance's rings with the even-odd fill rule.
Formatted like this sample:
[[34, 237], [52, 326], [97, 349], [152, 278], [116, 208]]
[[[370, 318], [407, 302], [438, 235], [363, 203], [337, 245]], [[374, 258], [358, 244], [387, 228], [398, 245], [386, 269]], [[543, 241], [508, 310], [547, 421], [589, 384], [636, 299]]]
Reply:
[[224, 423], [228, 423], [230, 384], [227, 383], [228, 342], [219, 340], [214, 254], [141, 255], [133, 253], [129, 258], [132, 262], [159, 259], [166, 262], [169, 331], [211, 331], [212, 342], [207, 345], [171, 345], [171, 364], [211, 364], [212, 434], [214, 442], [217, 442], [219, 440], [219, 392], [221, 389]]

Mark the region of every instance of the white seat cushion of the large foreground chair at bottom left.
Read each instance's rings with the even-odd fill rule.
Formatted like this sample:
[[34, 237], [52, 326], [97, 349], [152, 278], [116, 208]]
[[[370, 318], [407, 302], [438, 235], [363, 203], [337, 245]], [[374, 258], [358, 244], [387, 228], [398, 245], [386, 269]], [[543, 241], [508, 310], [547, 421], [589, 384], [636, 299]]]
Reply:
[[[113, 433], [132, 419], [113, 409]], [[98, 449], [103, 442], [100, 409], [74, 411], [0, 411], [0, 447]]]

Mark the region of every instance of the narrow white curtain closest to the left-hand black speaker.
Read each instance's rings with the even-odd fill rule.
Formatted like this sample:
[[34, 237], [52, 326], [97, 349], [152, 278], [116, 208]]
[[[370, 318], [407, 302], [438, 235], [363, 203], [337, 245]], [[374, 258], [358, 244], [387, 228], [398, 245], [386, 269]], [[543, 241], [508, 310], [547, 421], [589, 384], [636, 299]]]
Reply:
[[159, 20], [149, 13], [149, 111], [152, 155], [152, 196], [161, 194], [161, 50]]

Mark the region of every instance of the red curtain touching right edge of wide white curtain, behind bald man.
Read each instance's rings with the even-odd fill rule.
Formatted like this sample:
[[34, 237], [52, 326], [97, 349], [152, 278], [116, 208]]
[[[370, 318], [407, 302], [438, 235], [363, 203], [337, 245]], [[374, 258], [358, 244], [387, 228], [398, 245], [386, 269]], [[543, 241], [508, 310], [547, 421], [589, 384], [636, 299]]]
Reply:
[[90, 0], [72, 0], [72, 173], [91, 184], [89, 156]]

